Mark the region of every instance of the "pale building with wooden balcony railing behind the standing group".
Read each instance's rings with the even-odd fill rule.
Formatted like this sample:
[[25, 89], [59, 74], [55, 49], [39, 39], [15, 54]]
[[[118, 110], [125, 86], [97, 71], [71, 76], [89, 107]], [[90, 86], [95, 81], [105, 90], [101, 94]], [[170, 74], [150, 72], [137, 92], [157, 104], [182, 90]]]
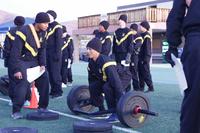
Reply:
[[[127, 14], [128, 26], [132, 23], [140, 23], [147, 20], [151, 25], [151, 33], [153, 37], [153, 62], [162, 62], [162, 40], [165, 39], [166, 19], [172, 8], [173, 0], [154, 0], [139, 4], [130, 4], [117, 7], [116, 12], [107, 14], [96, 14], [78, 18], [78, 29], [73, 31], [80, 47], [81, 40], [91, 38], [92, 33], [98, 28], [101, 20], [108, 20], [110, 27], [108, 31], [113, 33], [118, 28], [118, 18], [121, 14]], [[86, 43], [87, 41], [82, 41]]]

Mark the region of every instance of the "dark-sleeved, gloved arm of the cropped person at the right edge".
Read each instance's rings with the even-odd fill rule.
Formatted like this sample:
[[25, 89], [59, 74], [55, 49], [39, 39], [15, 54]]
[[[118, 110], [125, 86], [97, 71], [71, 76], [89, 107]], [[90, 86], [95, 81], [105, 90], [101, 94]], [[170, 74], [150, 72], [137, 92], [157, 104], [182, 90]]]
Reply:
[[181, 44], [183, 20], [186, 13], [185, 0], [174, 0], [172, 10], [167, 18], [167, 42], [169, 43], [169, 49], [165, 53], [165, 59], [173, 67], [174, 61], [171, 59], [171, 54], [178, 57], [177, 47]]

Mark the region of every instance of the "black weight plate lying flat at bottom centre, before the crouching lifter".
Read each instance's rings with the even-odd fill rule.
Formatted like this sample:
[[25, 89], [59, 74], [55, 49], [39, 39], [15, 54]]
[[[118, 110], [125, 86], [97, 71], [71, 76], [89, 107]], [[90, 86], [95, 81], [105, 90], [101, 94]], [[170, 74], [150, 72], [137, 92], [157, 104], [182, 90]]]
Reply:
[[77, 121], [73, 124], [74, 133], [78, 132], [112, 132], [112, 124], [103, 121]]

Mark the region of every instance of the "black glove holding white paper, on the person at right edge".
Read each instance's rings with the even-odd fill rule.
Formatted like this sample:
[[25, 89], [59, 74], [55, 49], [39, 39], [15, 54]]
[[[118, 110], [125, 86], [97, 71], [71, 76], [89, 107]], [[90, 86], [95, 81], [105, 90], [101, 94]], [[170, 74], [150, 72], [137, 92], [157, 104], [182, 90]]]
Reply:
[[172, 67], [174, 67], [175, 63], [171, 58], [171, 54], [174, 54], [174, 56], [178, 57], [178, 49], [175, 47], [169, 47], [168, 51], [165, 53], [165, 60], [171, 64]]

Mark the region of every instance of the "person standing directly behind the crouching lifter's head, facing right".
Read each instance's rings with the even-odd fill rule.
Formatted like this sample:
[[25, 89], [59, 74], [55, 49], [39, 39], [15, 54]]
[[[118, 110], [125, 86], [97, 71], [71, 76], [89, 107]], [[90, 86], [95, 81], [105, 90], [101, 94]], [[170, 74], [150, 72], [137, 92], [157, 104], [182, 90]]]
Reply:
[[107, 29], [109, 27], [108, 21], [101, 21], [99, 23], [99, 32], [96, 33], [95, 37], [99, 38], [102, 43], [102, 49], [101, 54], [109, 55], [111, 51], [111, 45], [112, 45], [112, 38], [110, 34], [108, 33]]

